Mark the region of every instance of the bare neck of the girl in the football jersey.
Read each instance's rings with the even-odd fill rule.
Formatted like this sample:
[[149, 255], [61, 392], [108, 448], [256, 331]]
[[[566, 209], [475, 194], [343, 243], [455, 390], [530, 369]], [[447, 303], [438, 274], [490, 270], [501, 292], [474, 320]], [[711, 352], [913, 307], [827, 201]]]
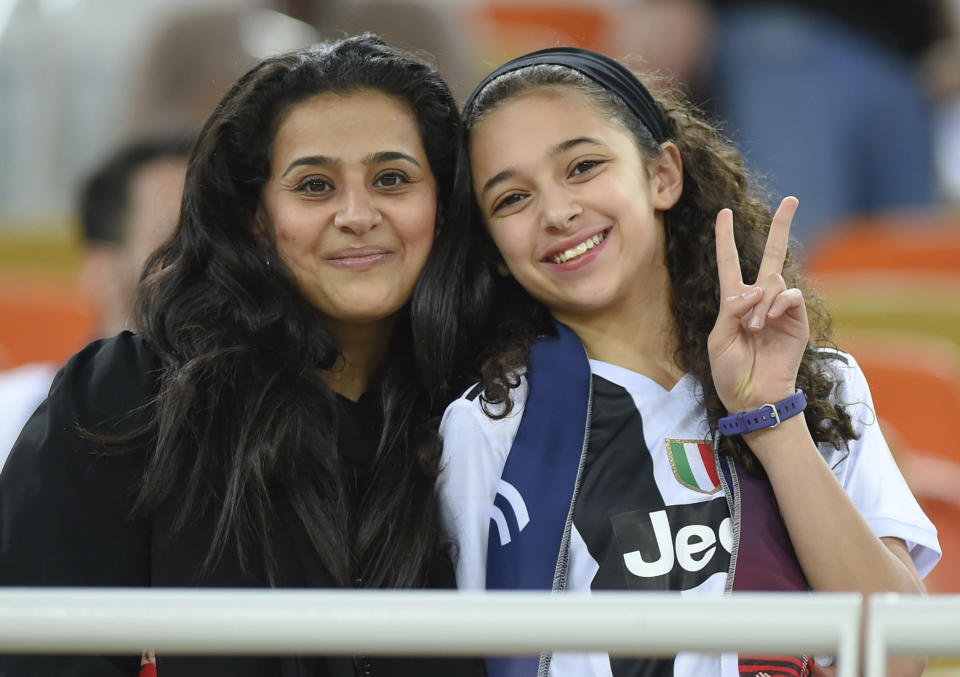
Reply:
[[678, 339], [669, 298], [663, 290], [658, 300], [632, 308], [554, 317], [576, 332], [590, 359], [643, 374], [670, 390], [685, 372], [674, 358]]

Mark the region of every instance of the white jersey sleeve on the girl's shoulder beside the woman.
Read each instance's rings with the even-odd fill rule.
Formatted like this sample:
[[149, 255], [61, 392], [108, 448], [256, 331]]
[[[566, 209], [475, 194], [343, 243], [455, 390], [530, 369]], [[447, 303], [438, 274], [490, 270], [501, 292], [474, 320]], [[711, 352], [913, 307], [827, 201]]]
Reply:
[[443, 414], [443, 457], [437, 492], [446, 536], [454, 548], [457, 587], [486, 587], [487, 536], [500, 475], [520, 425], [526, 383], [510, 392], [513, 411], [492, 419], [480, 397], [455, 400]]

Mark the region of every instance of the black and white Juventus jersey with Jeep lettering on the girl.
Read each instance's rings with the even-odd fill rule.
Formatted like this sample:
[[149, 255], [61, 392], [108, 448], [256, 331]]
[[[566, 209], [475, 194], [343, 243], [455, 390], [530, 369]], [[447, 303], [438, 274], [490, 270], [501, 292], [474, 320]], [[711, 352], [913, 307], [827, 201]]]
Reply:
[[[877, 536], [902, 538], [922, 575], [940, 557], [936, 530], [900, 474], [852, 357], [835, 362], [840, 401], [860, 439], [849, 453], [821, 449]], [[647, 377], [591, 360], [592, 418], [573, 513], [568, 589], [675, 590], [721, 595], [727, 587], [732, 527], [713, 461], [699, 385], [686, 375], [666, 390]], [[513, 443], [526, 383], [512, 391], [513, 411], [492, 419], [473, 389], [453, 402], [440, 427], [441, 511], [455, 543], [457, 584], [483, 590], [490, 530], [501, 541], [525, 514], [523, 496], [500, 476]], [[489, 406], [489, 405], [488, 405]], [[498, 499], [498, 493], [499, 499]], [[499, 507], [494, 506], [497, 500]], [[673, 659], [618, 659], [557, 652], [553, 677], [733, 676], [735, 654], [681, 653]]]

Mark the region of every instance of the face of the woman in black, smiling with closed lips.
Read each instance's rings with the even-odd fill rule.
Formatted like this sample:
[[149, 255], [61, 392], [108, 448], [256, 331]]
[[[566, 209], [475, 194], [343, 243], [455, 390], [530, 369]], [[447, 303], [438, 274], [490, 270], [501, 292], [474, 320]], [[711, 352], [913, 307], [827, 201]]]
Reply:
[[391, 318], [433, 243], [437, 186], [413, 111], [372, 91], [290, 109], [263, 207], [304, 295], [332, 322]]

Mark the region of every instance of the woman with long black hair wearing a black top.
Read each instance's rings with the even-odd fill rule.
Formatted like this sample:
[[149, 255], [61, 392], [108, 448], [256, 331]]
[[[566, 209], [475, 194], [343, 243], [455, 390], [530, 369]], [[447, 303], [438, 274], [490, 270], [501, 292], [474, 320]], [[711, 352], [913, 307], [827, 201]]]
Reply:
[[[418, 368], [408, 302], [452, 216], [457, 138], [438, 73], [372, 37], [244, 75], [204, 126], [179, 227], [145, 269], [142, 331], [70, 360], [0, 476], [0, 583], [452, 585], [427, 425], [444, 393]], [[5, 675], [139, 668], [136, 656], [0, 660]], [[465, 666], [161, 653], [158, 667]]]

